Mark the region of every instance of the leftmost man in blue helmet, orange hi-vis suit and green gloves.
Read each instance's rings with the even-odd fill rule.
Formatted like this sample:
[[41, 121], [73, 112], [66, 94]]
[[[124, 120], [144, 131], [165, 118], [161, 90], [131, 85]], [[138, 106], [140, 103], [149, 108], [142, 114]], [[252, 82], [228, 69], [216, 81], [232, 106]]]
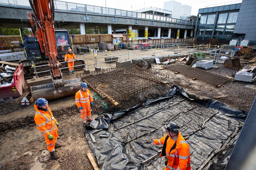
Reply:
[[48, 101], [46, 99], [39, 98], [36, 100], [34, 107], [36, 109], [36, 114], [34, 117], [36, 127], [44, 135], [46, 146], [52, 159], [56, 160], [60, 156], [55, 153], [55, 148], [61, 147], [56, 145], [59, 123], [53, 117], [52, 111], [48, 106]]

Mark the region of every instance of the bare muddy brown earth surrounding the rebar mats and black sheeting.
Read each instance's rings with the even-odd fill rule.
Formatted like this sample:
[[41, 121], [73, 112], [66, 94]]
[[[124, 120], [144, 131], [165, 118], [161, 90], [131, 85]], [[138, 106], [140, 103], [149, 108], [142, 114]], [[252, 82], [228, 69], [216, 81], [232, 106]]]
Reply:
[[[166, 50], [168, 53], [168, 50]], [[182, 64], [176, 63], [176, 64]], [[150, 69], [158, 70], [153, 65]], [[146, 99], [157, 99], [166, 96], [174, 84], [178, 85], [194, 98], [216, 100], [236, 109], [249, 111], [256, 96], [256, 90], [247, 88], [247, 85], [256, 85], [255, 82], [236, 82], [233, 75], [236, 72], [217, 64], [208, 70], [230, 78], [230, 82], [216, 87], [200, 80], [192, 80], [182, 74], [174, 74], [170, 70], [158, 70], [170, 75], [167, 84], [158, 84], [144, 92], [121, 101], [119, 106], [94, 95], [92, 117], [96, 118], [104, 112], [114, 112], [127, 109]], [[26, 93], [26, 90], [24, 94]], [[34, 106], [20, 106], [21, 98], [0, 103], [0, 164], [4, 170], [76, 170], [93, 169], [86, 154], [90, 151], [88, 142], [84, 137], [86, 129], [82, 126], [80, 113], [74, 104], [74, 95], [49, 101], [54, 117], [60, 124], [58, 142], [63, 146], [56, 149], [60, 155], [58, 160], [51, 160], [46, 149], [44, 137], [36, 129], [34, 123]], [[104, 102], [104, 103], [103, 103]], [[105, 105], [106, 106], [105, 106]], [[106, 108], [107, 107], [107, 108]]]

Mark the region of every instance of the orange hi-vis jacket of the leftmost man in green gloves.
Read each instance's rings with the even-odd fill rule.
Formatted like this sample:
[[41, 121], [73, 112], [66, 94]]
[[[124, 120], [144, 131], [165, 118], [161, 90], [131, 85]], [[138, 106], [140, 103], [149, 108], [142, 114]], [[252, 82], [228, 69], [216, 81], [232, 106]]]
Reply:
[[50, 107], [48, 107], [48, 111], [38, 110], [36, 105], [34, 105], [34, 107], [36, 109], [34, 120], [37, 129], [44, 135], [44, 137], [48, 137], [50, 134], [53, 135], [54, 132], [58, 130], [58, 127]]

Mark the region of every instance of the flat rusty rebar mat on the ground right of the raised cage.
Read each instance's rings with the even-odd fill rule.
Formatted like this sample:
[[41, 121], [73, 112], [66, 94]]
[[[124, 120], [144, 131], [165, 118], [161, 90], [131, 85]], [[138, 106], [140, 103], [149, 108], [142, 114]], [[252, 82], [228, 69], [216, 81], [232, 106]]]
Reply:
[[182, 74], [185, 74], [186, 76], [202, 80], [215, 86], [221, 86], [222, 84], [225, 84], [230, 80], [229, 78], [226, 78], [224, 76], [220, 76], [218, 74], [214, 74], [200, 68], [192, 68], [190, 66], [182, 64], [168, 65], [164, 66], [164, 68], [170, 69], [175, 72], [180, 72]]

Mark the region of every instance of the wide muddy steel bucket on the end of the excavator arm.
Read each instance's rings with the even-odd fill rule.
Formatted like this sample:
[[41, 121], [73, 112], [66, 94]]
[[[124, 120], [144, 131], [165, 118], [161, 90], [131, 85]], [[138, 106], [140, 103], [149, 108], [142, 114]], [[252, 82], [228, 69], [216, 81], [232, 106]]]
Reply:
[[64, 81], [64, 86], [55, 88], [53, 83], [32, 86], [32, 98], [36, 101], [38, 98], [53, 100], [75, 94], [81, 87], [81, 78]]

